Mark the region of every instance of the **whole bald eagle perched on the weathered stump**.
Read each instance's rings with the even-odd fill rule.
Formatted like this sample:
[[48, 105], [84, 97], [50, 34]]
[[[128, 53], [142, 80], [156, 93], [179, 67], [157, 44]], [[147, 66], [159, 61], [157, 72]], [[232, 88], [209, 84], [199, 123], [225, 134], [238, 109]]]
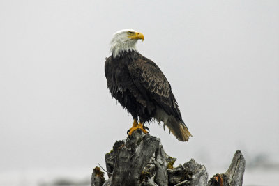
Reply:
[[114, 33], [112, 55], [105, 61], [107, 87], [134, 119], [128, 135], [138, 128], [147, 133], [144, 123], [156, 119], [179, 141], [188, 141], [192, 135], [182, 120], [172, 87], [158, 65], [137, 51], [137, 40], [143, 41], [144, 35], [132, 29]]

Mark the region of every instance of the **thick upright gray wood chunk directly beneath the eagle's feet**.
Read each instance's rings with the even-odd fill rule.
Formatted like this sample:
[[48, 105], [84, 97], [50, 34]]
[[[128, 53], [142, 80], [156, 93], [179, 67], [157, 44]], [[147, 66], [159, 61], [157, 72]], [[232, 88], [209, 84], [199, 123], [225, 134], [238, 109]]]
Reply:
[[140, 174], [159, 143], [160, 139], [135, 131], [117, 151], [111, 185], [140, 185]]

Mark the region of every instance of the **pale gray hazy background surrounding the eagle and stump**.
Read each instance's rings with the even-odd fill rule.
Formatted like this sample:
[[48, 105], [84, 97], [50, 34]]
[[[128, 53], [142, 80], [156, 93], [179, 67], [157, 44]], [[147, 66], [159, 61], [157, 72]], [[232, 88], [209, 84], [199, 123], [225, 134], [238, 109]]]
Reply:
[[9, 0], [0, 1], [0, 185], [89, 181], [105, 167], [133, 123], [104, 74], [112, 34], [126, 28], [144, 34], [137, 47], [165, 73], [193, 134], [182, 143], [148, 126], [175, 165], [193, 157], [211, 177], [241, 150], [246, 185], [278, 183], [265, 176], [279, 175], [279, 1]]

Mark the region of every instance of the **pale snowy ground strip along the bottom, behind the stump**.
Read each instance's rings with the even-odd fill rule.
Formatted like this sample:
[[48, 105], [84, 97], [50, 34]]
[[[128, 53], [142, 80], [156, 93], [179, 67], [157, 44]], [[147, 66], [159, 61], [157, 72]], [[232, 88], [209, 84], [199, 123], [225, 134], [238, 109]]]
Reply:
[[[209, 176], [213, 176], [214, 173], [210, 171]], [[6, 171], [0, 172], [0, 186], [90, 186], [90, 176], [91, 169]], [[278, 183], [279, 169], [246, 169], [244, 173], [243, 185], [246, 186], [278, 185]]]

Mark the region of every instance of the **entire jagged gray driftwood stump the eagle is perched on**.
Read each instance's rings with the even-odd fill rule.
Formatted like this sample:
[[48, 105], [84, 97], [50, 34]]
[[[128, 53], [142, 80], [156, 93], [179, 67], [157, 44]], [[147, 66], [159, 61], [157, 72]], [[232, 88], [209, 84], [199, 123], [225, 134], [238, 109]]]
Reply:
[[236, 151], [227, 172], [218, 173], [209, 180], [205, 166], [194, 159], [174, 168], [175, 161], [176, 158], [165, 153], [159, 138], [137, 130], [130, 138], [116, 141], [105, 155], [109, 179], [105, 180], [96, 167], [91, 185], [242, 185], [245, 160], [240, 151]]

